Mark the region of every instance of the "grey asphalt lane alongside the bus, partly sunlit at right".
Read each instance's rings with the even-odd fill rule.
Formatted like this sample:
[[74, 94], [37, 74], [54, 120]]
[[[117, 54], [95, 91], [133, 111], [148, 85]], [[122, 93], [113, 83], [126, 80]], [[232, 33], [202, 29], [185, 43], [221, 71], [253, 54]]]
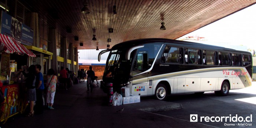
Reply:
[[[190, 120], [190, 114], [198, 115], [198, 122], [219, 128], [256, 128], [256, 82], [244, 89], [230, 90], [228, 96], [216, 96], [214, 92], [205, 92], [203, 95], [188, 93], [183, 95], [172, 95], [167, 98], [169, 102], [182, 104], [183, 109], [157, 112], [157, 114], [171, 116], [174, 118]], [[240, 121], [223, 119], [221, 116], [236, 116]], [[250, 117], [252, 116], [252, 118]], [[213, 117], [214, 121], [200, 121], [200, 117]], [[244, 121], [249, 116], [249, 121]], [[241, 118], [243, 117], [243, 119]], [[252, 119], [252, 121], [250, 121]], [[242, 120], [242, 121], [241, 121]]]

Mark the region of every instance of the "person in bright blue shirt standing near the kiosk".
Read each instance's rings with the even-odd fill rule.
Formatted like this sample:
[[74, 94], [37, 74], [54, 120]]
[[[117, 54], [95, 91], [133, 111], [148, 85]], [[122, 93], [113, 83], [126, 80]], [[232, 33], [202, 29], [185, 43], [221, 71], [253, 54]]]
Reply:
[[36, 65], [36, 114], [43, 113], [43, 74], [41, 73], [41, 65]]

